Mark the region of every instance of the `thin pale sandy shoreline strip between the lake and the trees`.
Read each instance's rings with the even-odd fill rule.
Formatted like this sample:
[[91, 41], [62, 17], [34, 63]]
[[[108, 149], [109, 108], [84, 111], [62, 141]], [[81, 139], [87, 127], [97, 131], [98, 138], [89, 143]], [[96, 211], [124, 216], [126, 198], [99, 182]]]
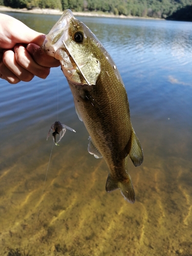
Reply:
[[[58, 9], [40, 9], [34, 8], [28, 10], [27, 8], [23, 9], [14, 9], [11, 7], [0, 6], [0, 13], [1, 12], [22, 12], [22, 13], [35, 13], [35, 14], [51, 14], [51, 15], [61, 15], [63, 11]], [[112, 13], [105, 14], [105, 13], [97, 13], [97, 12], [73, 12], [74, 16], [89, 16], [89, 17], [106, 17], [106, 18], [130, 18], [130, 19], [157, 19], [157, 20], [165, 20], [163, 18], [151, 18], [151, 17], [138, 17], [138, 16], [125, 16], [125, 15], [115, 15]]]

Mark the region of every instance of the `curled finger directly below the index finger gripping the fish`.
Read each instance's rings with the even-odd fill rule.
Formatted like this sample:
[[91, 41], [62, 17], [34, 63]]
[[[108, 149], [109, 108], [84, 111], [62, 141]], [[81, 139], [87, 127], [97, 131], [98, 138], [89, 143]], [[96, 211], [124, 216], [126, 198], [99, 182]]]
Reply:
[[23, 67], [25, 70], [28, 70], [35, 76], [40, 78], [46, 78], [50, 73], [50, 68], [42, 67], [34, 61], [32, 56], [26, 50], [26, 48], [22, 45], [16, 45], [14, 47], [15, 58], [19, 66]]

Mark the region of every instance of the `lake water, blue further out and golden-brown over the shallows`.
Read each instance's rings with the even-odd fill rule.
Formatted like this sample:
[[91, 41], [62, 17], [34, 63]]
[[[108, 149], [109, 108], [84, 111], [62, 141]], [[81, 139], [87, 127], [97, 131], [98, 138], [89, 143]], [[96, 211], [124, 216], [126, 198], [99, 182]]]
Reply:
[[[59, 18], [8, 14], [46, 34]], [[87, 151], [89, 135], [60, 68], [46, 80], [1, 80], [0, 254], [192, 255], [192, 23], [79, 19], [126, 87], [144, 153], [141, 166], [128, 163], [136, 202], [106, 193], [108, 167]], [[46, 137], [57, 116], [76, 133], [67, 130], [53, 146]]]

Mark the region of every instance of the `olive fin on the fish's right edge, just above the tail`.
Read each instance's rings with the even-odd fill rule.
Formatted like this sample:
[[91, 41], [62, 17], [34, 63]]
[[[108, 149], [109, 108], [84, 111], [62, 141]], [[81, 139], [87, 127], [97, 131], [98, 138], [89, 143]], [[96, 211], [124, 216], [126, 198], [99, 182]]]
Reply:
[[143, 150], [141, 147], [141, 143], [139, 139], [137, 138], [134, 130], [132, 133], [132, 145], [130, 150], [130, 158], [135, 166], [139, 166], [143, 162]]

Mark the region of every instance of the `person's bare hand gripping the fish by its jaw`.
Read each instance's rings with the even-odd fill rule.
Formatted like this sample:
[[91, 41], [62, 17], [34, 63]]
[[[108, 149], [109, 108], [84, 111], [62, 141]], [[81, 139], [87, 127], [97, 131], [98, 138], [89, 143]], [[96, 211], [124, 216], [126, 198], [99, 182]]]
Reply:
[[0, 14], [0, 78], [13, 84], [31, 81], [34, 76], [45, 79], [50, 68], [60, 63], [40, 49], [44, 39], [44, 34]]

